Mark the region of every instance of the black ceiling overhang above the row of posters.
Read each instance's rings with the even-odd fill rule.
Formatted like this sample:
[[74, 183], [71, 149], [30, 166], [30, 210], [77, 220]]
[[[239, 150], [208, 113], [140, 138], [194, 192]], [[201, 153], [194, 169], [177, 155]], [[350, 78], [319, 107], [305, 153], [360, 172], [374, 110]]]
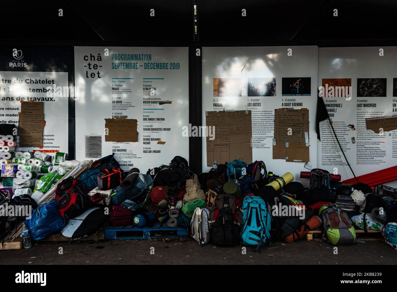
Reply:
[[[193, 0], [30, 1], [2, 4], [1, 39], [193, 44]], [[62, 8], [64, 16], [58, 16]], [[155, 16], [150, 16], [154, 9]], [[247, 16], [241, 15], [246, 9]], [[333, 16], [333, 10], [338, 16]], [[393, 0], [198, 0], [198, 40], [354, 45], [395, 37]]]

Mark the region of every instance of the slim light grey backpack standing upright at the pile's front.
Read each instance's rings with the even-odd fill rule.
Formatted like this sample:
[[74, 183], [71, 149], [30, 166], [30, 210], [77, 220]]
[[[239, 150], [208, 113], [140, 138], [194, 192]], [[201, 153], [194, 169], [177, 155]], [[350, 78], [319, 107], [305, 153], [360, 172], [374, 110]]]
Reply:
[[208, 209], [197, 207], [190, 221], [190, 234], [201, 246], [210, 242], [209, 217]]

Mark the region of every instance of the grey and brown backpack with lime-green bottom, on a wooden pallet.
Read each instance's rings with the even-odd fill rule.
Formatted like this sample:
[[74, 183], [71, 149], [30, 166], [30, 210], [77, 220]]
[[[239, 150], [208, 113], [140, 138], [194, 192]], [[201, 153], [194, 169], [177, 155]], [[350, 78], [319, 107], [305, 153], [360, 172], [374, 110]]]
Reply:
[[321, 207], [320, 216], [325, 232], [323, 238], [328, 244], [348, 245], [355, 242], [356, 231], [353, 223], [336, 204]]

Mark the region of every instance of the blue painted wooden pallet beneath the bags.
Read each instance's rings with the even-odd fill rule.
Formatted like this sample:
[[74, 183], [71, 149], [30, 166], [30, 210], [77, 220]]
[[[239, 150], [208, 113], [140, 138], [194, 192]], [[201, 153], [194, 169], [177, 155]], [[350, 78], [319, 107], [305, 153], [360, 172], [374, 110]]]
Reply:
[[108, 226], [105, 227], [105, 239], [153, 239], [153, 238], [175, 238], [188, 237], [189, 232], [186, 228], [170, 228], [166, 223], [160, 227], [160, 223], [155, 223], [153, 227], [127, 226]]

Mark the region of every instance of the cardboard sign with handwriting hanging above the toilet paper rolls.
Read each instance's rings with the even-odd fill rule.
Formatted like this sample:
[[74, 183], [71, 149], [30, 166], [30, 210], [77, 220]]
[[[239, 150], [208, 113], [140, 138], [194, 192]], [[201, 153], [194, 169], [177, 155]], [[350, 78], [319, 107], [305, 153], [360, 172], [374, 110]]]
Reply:
[[44, 125], [44, 102], [22, 102], [18, 121], [19, 146], [42, 147]]

